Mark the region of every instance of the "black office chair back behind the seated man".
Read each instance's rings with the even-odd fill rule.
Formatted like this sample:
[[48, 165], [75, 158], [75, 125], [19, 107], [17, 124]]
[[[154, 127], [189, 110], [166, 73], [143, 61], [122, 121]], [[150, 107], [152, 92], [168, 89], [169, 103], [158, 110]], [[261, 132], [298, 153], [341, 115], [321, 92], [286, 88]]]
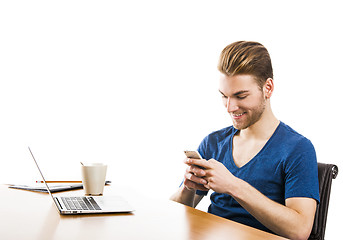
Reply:
[[332, 179], [338, 174], [338, 167], [333, 164], [318, 163], [320, 203], [317, 206], [309, 240], [324, 240], [326, 219], [329, 209]]

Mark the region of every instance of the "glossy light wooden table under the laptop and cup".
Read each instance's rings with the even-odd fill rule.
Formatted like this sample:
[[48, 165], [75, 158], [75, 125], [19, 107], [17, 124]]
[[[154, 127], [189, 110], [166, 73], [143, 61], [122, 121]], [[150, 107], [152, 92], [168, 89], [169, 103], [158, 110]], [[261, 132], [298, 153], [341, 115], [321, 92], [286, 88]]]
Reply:
[[[1, 239], [284, 239], [170, 200], [153, 200], [132, 192], [120, 193], [136, 209], [131, 214], [59, 215], [48, 194], [0, 185]], [[58, 193], [82, 195], [83, 190]]]

